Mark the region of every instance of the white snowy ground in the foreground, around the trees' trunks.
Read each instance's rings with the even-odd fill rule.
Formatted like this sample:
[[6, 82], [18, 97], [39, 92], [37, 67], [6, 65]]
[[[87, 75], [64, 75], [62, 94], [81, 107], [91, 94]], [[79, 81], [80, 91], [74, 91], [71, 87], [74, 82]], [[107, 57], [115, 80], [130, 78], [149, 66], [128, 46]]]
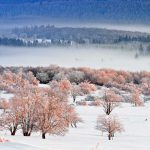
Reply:
[[[108, 141], [107, 135], [95, 129], [98, 115], [103, 110], [94, 106], [76, 106], [77, 112], [84, 120], [78, 128], [70, 128], [61, 136], [49, 136], [41, 139], [40, 133], [23, 137], [21, 132], [14, 137], [9, 132], [0, 132], [0, 136], [10, 140], [0, 144], [2, 150], [149, 150], [150, 149], [150, 103], [145, 107], [131, 107], [122, 104], [113, 111], [124, 124], [125, 132], [117, 134], [114, 140]], [[147, 121], [145, 119], [147, 118]]]

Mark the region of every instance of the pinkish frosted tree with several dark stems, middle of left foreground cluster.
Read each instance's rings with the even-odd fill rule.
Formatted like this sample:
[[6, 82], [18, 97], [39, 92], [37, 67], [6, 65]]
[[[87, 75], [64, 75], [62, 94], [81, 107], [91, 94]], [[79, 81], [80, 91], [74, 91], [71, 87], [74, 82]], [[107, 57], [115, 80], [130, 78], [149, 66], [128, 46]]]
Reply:
[[18, 105], [16, 109], [20, 112], [19, 120], [24, 136], [30, 136], [36, 130], [40, 96], [40, 88], [26, 85], [12, 99], [12, 103]]

